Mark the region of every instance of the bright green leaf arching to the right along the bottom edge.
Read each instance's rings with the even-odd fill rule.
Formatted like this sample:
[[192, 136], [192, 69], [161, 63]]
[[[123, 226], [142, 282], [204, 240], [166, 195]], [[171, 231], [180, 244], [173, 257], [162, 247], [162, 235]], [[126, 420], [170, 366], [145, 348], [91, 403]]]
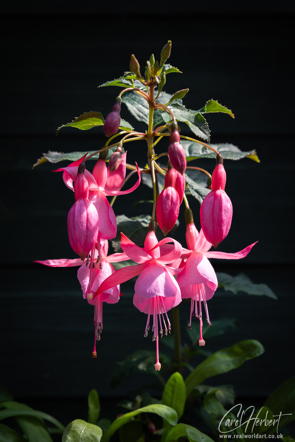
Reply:
[[166, 419], [171, 425], [176, 425], [177, 423], [177, 413], [173, 408], [167, 407], [166, 405], [153, 404], [147, 407], [138, 408], [134, 412], [126, 413], [125, 415], [115, 419], [111, 424], [111, 427], [103, 434], [101, 442], [108, 442], [111, 435], [115, 433], [122, 425], [128, 422], [132, 417], [137, 416], [140, 413], [156, 413], [161, 416], [161, 418]]

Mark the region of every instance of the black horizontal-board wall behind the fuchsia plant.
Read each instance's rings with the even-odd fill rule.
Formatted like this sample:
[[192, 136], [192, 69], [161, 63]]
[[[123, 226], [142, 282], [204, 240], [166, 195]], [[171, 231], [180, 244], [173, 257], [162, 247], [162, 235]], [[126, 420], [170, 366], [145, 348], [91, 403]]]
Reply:
[[[278, 300], [218, 289], [208, 303], [211, 320], [236, 318], [240, 325], [206, 343], [207, 350], [216, 351], [244, 339], [261, 341], [261, 357], [210, 380], [212, 385], [233, 384], [241, 400], [261, 404], [294, 375], [293, 4], [209, 1], [156, 4], [153, 9], [130, 3], [108, 7], [98, 2], [29, 1], [14, 2], [13, 8], [6, 4], [2, 10], [1, 381], [18, 400], [65, 424], [85, 419], [85, 398], [92, 388], [107, 404], [139, 385], [137, 376], [117, 389], [109, 385], [115, 361], [131, 351], [154, 349], [151, 339], [143, 339], [146, 316], [132, 305], [132, 284], [122, 285], [125, 296], [119, 304], [103, 307], [103, 337], [93, 360], [93, 308], [82, 299], [77, 268], [32, 263], [75, 254], [66, 229], [73, 195], [61, 175], [51, 172], [53, 164], [33, 171], [31, 167], [48, 150], [100, 149], [105, 142], [102, 128], [65, 128], [58, 137], [55, 130], [90, 110], [106, 117], [120, 89], [97, 86], [129, 70], [131, 53], [144, 72], [150, 54], [159, 60], [161, 48], [171, 39], [169, 63], [183, 74], [169, 74], [164, 90], [189, 88], [184, 99], [188, 108], [199, 109], [212, 98], [231, 109], [235, 119], [207, 115], [211, 142], [256, 149], [261, 159], [261, 164], [247, 158], [224, 162], [234, 216], [218, 248], [234, 252], [259, 242], [243, 260], [211, 261], [216, 271], [244, 272], [253, 282], [266, 283]], [[124, 105], [122, 117], [135, 128], [145, 127]], [[188, 134], [184, 126], [182, 133]], [[126, 146], [127, 162], [143, 167], [146, 147]], [[157, 152], [167, 147], [162, 140]], [[195, 165], [212, 172], [215, 161]], [[151, 213], [151, 205], [132, 209], [134, 201], [150, 194], [142, 184], [117, 198], [115, 213]], [[199, 225], [199, 203], [193, 198], [190, 203]], [[181, 207], [174, 236], [185, 246], [184, 233]], [[185, 343], [188, 305], [180, 309]], [[164, 345], [161, 349], [168, 350]], [[193, 363], [198, 361], [201, 358]]]

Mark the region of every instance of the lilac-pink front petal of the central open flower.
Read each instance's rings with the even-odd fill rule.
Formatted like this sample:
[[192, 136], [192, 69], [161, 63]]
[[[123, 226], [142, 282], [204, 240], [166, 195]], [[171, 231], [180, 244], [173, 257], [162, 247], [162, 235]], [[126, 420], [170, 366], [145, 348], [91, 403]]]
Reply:
[[135, 282], [134, 289], [138, 296], [143, 298], [171, 297], [180, 291], [175, 278], [155, 260], [146, 264]]

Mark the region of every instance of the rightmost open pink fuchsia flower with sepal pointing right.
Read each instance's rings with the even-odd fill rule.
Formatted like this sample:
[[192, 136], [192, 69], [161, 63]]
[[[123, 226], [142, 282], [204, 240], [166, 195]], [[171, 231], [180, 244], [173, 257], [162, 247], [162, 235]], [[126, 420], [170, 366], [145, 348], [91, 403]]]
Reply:
[[[212, 244], [206, 240], [203, 229], [198, 232], [195, 228], [192, 211], [190, 209], [185, 210], [185, 219], [187, 222], [186, 240], [188, 244], [187, 249], [183, 249], [182, 256], [185, 257], [180, 264], [183, 267], [183, 271], [177, 276], [177, 282], [180, 286], [182, 298], [192, 298], [191, 302], [191, 316], [189, 327], [191, 327], [192, 316], [199, 318], [200, 320], [200, 340], [199, 345], [205, 345], [205, 341], [202, 337], [202, 309], [201, 302], [205, 307], [207, 323], [211, 327], [209, 319], [209, 313], [207, 308], [207, 300], [211, 299], [215, 290], [218, 287], [218, 281], [211, 263], [208, 258], [220, 258], [220, 259], [241, 259], [248, 255], [251, 248], [256, 244], [250, 244], [248, 247], [236, 253], [225, 253], [219, 251], [208, 251]], [[167, 247], [167, 246], [166, 246]], [[178, 263], [172, 263], [172, 266], [176, 266]], [[198, 305], [199, 302], [199, 312]], [[194, 308], [195, 303], [195, 308]]]

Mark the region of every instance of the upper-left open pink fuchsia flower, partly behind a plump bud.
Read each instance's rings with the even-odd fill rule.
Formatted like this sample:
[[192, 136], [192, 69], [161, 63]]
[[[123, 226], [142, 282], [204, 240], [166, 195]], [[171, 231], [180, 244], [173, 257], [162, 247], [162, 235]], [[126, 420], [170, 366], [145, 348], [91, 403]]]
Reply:
[[[138, 181], [130, 189], [120, 191], [126, 174], [126, 152], [122, 155], [122, 161], [115, 172], [110, 173], [105, 164], [107, 151], [101, 152], [103, 155], [97, 161], [93, 169], [93, 175], [85, 169], [85, 177], [88, 181], [89, 201], [96, 207], [98, 217], [100, 220], [99, 232], [100, 237], [104, 240], [115, 238], [117, 234], [117, 222], [113, 209], [107, 201], [106, 195], [124, 195], [133, 192], [140, 184], [141, 175], [136, 164], [138, 172]], [[78, 166], [68, 166], [59, 168], [55, 172], [65, 171], [69, 175], [66, 177], [66, 186], [73, 190], [73, 181], [76, 179]]]

